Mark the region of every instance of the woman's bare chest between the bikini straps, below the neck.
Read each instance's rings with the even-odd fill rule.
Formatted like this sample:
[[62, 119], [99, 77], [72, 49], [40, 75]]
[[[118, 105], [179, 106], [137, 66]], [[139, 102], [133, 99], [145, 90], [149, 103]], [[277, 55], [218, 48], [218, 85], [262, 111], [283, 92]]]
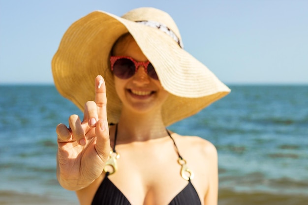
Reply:
[[[172, 144], [169, 146], [117, 147], [118, 170], [108, 176], [132, 205], [168, 205], [191, 192], [194, 186], [181, 176], [182, 165]], [[179, 194], [181, 193], [181, 194]], [[195, 198], [198, 198], [194, 190]]]

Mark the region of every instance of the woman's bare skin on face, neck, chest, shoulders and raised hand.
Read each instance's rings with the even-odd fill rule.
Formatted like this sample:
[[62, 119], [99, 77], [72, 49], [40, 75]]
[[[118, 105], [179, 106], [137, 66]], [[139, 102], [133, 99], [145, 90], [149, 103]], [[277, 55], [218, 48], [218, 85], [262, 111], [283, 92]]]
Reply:
[[[147, 60], [130, 35], [118, 42], [113, 52], [137, 61]], [[95, 100], [87, 102], [84, 119], [73, 115], [69, 118], [70, 129], [64, 124], [57, 127], [57, 176], [64, 188], [76, 191], [81, 205], [91, 205], [114, 143], [115, 126], [108, 129], [107, 125], [105, 84], [97, 88], [100, 80], [101, 76], [95, 79]], [[114, 80], [123, 102], [116, 145], [120, 158], [118, 171], [108, 177], [132, 205], [168, 205], [188, 183], [180, 175], [178, 155], [161, 117], [168, 92], [142, 66], [131, 78]], [[176, 133], [172, 137], [194, 172], [192, 184], [202, 205], [216, 205], [216, 148], [199, 137]]]

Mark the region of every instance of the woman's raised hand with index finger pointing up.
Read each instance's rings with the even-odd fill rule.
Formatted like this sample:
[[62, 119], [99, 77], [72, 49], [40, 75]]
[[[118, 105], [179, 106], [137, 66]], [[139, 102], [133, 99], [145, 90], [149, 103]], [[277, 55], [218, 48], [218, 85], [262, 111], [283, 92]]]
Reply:
[[57, 176], [69, 190], [88, 186], [101, 175], [110, 152], [107, 121], [106, 86], [101, 76], [95, 78], [95, 101], [85, 105], [84, 118], [69, 117], [69, 128], [57, 126]]

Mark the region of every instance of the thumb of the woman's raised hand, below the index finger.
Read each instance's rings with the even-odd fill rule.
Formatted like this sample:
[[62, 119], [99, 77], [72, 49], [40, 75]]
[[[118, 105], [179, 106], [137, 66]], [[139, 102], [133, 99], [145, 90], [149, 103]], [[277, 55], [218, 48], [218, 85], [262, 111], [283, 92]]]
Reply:
[[99, 119], [95, 126], [95, 149], [103, 162], [106, 162], [110, 152], [110, 137], [107, 120]]

